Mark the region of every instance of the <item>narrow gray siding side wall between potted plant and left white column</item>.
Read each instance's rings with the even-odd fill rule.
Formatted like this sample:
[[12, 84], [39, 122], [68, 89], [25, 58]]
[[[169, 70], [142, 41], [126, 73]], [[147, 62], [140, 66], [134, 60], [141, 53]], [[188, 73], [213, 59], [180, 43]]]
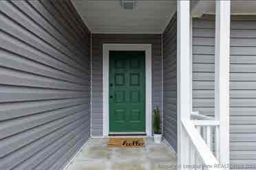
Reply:
[[177, 151], [177, 15], [162, 34], [163, 45], [163, 132]]

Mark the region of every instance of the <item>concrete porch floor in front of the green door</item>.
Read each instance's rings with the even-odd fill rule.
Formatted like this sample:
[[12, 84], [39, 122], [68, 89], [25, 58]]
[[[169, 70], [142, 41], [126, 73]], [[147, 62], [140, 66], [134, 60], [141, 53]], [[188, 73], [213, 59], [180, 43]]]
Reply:
[[109, 138], [91, 138], [67, 170], [170, 170], [176, 155], [163, 140], [144, 138], [145, 148], [108, 148]]

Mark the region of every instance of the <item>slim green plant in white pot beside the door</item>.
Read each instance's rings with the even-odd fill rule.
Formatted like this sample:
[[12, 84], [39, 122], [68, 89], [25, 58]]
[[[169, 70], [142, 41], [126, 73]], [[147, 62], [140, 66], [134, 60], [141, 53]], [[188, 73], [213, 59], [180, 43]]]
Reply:
[[153, 139], [155, 143], [161, 143], [162, 141], [162, 133], [161, 133], [161, 120], [160, 120], [160, 110], [158, 107], [153, 110]]

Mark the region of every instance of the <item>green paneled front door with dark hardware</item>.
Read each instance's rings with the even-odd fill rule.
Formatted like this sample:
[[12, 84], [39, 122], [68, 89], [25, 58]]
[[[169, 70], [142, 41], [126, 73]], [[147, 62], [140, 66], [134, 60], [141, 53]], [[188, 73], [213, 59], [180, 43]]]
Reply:
[[109, 51], [109, 132], [145, 132], [144, 51]]

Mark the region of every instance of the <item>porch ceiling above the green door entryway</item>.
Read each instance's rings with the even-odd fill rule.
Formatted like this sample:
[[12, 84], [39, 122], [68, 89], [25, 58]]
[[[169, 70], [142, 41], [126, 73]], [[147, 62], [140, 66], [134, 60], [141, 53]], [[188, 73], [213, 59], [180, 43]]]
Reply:
[[135, 10], [123, 10], [120, 0], [72, 0], [92, 33], [161, 34], [176, 10], [176, 1], [137, 0]]

